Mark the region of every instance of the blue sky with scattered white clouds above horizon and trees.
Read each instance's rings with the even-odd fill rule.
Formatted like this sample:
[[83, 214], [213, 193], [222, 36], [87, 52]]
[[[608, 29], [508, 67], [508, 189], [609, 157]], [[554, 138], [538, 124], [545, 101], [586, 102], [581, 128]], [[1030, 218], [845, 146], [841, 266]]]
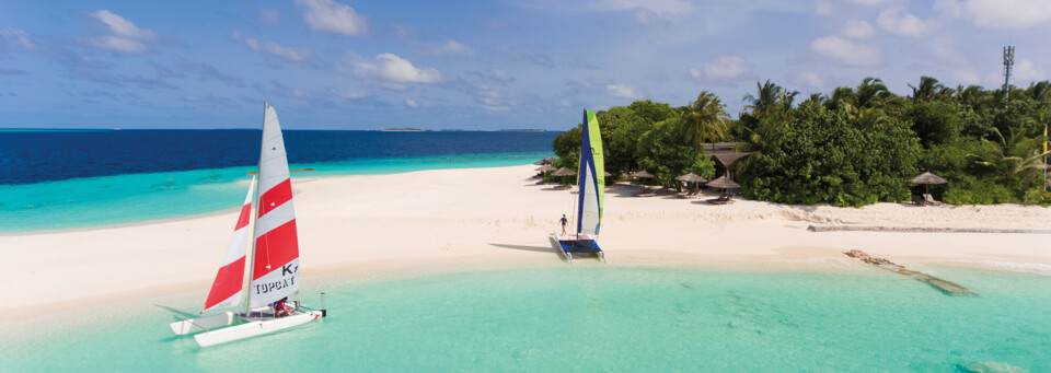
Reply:
[[581, 110], [1051, 71], [1047, 0], [0, 0], [0, 127], [566, 130]]

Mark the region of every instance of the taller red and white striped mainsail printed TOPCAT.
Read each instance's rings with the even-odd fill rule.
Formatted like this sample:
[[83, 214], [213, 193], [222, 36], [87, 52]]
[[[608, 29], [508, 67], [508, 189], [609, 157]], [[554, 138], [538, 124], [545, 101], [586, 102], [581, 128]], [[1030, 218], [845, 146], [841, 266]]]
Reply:
[[266, 104], [263, 121], [257, 210], [250, 307], [274, 303], [299, 290], [299, 238], [292, 209], [292, 184], [288, 177], [281, 127], [269, 104]]

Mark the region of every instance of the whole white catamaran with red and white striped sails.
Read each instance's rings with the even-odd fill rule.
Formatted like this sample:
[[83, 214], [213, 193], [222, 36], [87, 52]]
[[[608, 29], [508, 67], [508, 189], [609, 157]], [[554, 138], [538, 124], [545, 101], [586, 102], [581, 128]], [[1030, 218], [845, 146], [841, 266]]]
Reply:
[[[201, 314], [208, 315], [171, 324], [176, 335], [196, 334], [194, 339], [201, 347], [291, 328], [326, 315], [324, 295], [322, 310], [307, 310], [299, 304], [299, 238], [292, 185], [280, 124], [269, 103], [264, 109], [258, 174], [258, 178], [252, 178], [222, 266], [205, 300]], [[259, 194], [257, 203], [253, 203], [256, 186]], [[255, 214], [252, 205], [256, 207]], [[253, 249], [245, 255], [252, 218]], [[274, 306], [289, 296], [293, 296], [290, 304], [294, 306]]]

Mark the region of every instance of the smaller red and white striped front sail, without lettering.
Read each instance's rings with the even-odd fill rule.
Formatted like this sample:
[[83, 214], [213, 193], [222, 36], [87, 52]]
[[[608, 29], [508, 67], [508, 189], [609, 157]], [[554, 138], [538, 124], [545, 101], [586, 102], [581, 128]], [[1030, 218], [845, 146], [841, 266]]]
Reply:
[[238, 225], [233, 228], [233, 236], [227, 246], [227, 255], [222, 258], [216, 281], [211, 283], [211, 291], [205, 300], [205, 312], [216, 308], [229, 308], [241, 303], [241, 290], [244, 289], [244, 253], [249, 246], [249, 221], [252, 219], [252, 195], [255, 191], [255, 177], [249, 186], [249, 195], [241, 206], [241, 215]]

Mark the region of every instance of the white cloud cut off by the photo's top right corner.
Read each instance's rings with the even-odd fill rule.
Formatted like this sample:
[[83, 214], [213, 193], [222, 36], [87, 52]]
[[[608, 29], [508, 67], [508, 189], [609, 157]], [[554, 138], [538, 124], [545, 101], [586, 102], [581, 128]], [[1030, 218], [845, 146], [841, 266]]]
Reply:
[[985, 28], [1021, 30], [1051, 22], [1047, 0], [938, 0], [935, 9]]

